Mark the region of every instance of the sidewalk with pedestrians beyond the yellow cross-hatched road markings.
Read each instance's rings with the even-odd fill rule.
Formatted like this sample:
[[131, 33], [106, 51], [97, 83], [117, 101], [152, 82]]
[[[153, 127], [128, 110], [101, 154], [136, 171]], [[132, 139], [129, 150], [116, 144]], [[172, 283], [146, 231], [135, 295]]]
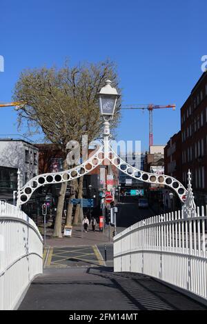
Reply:
[[104, 243], [112, 243], [112, 232], [114, 227], [110, 227], [110, 239], [108, 225], [106, 225], [103, 232], [97, 229], [95, 232], [89, 227], [88, 232], [81, 232], [81, 225], [72, 227], [72, 237], [54, 238], [52, 237], [52, 230], [47, 229], [46, 245], [50, 247], [66, 247], [66, 246], [88, 246], [100, 245]]

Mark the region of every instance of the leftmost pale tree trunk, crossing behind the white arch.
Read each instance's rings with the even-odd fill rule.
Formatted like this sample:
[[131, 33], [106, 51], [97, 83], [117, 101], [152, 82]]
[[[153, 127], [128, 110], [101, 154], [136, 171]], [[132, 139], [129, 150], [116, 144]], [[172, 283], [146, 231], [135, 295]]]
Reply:
[[[67, 170], [66, 160], [63, 163], [63, 169]], [[68, 185], [67, 181], [61, 184], [61, 190], [59, 192], [58, 203], [57, 203], [57, 214], [55, 217], [54, 231], [52, 234], [53, 237], [63, 237], [61, 227], [62, 227], [62, 215], [63, 215], [63, 207], [64, 207], [67, 185]]]

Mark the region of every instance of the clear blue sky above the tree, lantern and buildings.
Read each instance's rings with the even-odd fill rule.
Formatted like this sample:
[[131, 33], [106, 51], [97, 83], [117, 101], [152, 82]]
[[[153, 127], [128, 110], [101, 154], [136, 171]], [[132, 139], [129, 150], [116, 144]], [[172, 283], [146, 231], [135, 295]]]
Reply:
[[[207, 54], [206, 0], [1, 0], [0, 101], [10, 101], [24, 68], [117, 63], [124, 104], [176, 103], [154, 112], [154, 143], [180, 128], [179, 110]], [[1, 109], [0, 134], [17, 133], [16, 113]], [[148, 112], [124, 111], [117, 138], [148, 148]]]

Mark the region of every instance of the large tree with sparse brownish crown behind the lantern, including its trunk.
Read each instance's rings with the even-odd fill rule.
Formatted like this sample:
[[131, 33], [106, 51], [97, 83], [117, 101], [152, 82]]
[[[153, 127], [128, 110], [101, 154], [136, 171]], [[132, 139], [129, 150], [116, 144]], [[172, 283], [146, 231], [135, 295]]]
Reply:
[[[102, 61], [75, 67], [37, 68], [24, 70], [14, 88], [14, 100], [26, 101], [19, 108], [19, 128], [27, 125], [27, 135], [41, 133], [44, 140], [58, 145], [63, 152], [63, 168], [67, 170], [68, 141], [81, 142], [99, 137], [103, 126], [99, 114], [97, 92], [110, 79], [118, 88], [115, 63]], [[117, 105], [112, 128], [119, 121]], [[67, 183], [62, 183], [57, 205], [54, 236], [61, 237], [61, 218]]]

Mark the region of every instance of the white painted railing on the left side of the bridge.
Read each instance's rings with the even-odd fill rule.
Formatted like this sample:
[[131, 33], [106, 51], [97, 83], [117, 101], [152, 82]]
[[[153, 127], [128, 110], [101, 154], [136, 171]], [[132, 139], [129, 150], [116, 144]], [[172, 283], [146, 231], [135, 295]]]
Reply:
[[37, 226], [16, 206], [0, 201], [0, 310], [13, 310], [43, 270], [43, 240]]

